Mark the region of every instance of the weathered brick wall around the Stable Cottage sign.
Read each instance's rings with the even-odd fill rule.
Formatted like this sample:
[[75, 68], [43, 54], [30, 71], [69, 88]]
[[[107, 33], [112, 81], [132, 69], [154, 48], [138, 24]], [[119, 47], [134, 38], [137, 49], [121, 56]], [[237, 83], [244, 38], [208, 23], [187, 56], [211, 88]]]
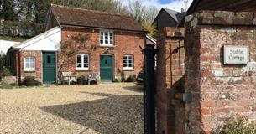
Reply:
[[[185, 133], [210, 133], [231, 116], [256, 121], [256, 13], [201, 11], [185, 18]], [[223, 65], [224, 45], [250, 50], [247, 65]]]

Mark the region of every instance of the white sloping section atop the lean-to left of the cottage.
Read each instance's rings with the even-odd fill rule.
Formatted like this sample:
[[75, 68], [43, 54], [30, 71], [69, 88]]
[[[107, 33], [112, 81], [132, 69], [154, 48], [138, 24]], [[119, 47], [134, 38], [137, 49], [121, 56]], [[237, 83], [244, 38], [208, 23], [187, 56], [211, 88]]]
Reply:
[[57, 51], [60, 49], [61, 28], [52, 28], [21, 44], [14, 46], [20, 50]]

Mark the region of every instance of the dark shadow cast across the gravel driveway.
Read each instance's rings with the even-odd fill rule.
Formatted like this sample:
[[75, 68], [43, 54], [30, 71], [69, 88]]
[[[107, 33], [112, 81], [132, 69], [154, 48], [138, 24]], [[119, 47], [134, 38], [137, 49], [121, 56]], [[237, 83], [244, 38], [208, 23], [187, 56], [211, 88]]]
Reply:
[[143, 133], [142, 95], [83, 93], [107, 98], [40, 109], [99, 133]]

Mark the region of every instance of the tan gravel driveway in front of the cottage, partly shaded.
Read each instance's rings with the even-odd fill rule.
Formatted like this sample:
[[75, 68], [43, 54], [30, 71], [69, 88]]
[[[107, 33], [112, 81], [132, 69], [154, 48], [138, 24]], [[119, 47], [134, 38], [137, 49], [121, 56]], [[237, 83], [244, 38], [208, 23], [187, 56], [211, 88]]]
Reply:
[[0, 89], [1, 134], [140, 134], [142, 115], [132, 83]]

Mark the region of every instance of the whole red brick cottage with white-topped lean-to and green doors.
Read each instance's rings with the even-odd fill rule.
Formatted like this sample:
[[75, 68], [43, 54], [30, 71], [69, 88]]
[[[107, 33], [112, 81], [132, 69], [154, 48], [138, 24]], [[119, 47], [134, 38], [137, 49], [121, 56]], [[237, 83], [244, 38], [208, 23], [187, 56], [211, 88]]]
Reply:
[[[122, 71], [136, 75], [142, 70], [141, 48], [149, 36], [131, 17], [51, 5], [47, 29], [9, 50], [16, 54], [18, 81], [34, 75], [43, 83], [55, 83], [63, 71], [76, 76], [100, 72], [102, 80], [112, 81]], [[76, 55], [69, 57], [73, 64], [65, 64], [68, 51], [60, 55], [64, 44], [76, 47]]]

